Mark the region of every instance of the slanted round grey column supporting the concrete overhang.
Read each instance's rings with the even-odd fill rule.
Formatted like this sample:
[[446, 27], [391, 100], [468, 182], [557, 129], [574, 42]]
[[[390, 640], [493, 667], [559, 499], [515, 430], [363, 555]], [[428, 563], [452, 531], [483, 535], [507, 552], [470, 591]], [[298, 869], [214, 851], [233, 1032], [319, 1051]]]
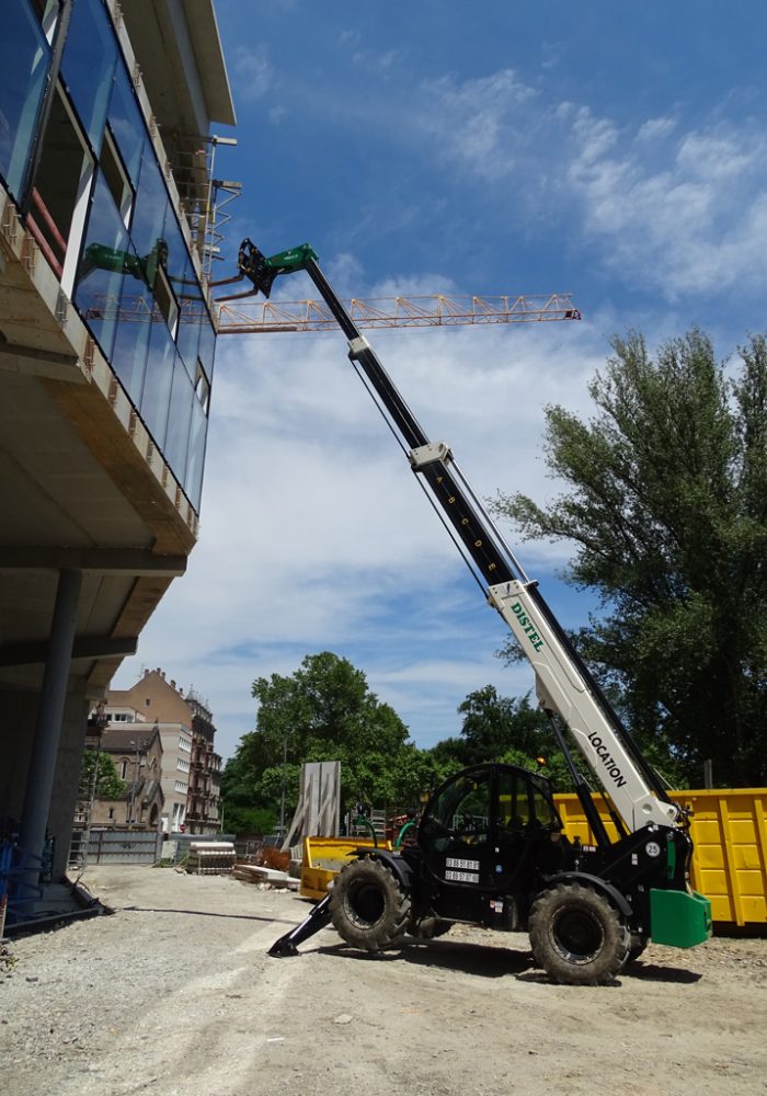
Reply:
[[[54, 789], [81, 585], [81, 571], [64, 570], [59, 572], [48, 658], [45, 663], [43, 687], [39, 694], [35, 741], [32, 746], [24, 811], [21, 819], [21, 847], [35, 856], [42, 854], [45, 844], [45, 829], [48, 824], [50, 797]], [[36, 867], [25, 872], [24, 882], [36, 886]]]

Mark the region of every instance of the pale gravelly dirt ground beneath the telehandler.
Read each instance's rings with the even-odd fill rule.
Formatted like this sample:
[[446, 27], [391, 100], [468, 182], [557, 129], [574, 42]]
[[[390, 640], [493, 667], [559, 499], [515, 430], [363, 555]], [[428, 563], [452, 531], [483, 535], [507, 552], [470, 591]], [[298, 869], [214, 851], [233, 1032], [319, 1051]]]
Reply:
[[7, 1096], [753, 1096], [767, 1093], [767, 939], [650, 946], [607, 987], [551, 984], [522, 935], [456, 926], [364, 956], [310, 906], [172, 869], [82, 879], [116, 912], [0, 959]]

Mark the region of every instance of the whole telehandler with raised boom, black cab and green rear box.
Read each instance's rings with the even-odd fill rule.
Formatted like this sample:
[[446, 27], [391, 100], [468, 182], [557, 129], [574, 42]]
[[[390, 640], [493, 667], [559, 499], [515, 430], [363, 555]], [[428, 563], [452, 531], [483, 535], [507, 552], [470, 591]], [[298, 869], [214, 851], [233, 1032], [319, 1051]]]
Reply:
[[[442, 516], [489, 604], [527, 655], [595, 844], [570, 841], [549, 787], [536, 773], [484, 764], [431, 797], [415, 843], [360, 848], [328, 895], [270, 955], [332, 923], [350, 945], [394, 948], [405, 934], [432, 937], [456, 922], [529, 933], [534, 960], [563, 984], [610, 982], [649, 940], [692, 947], [711, 935], [708, 899], [691, 890], [689, 820], [666, 790], [525, 574], [458, 467], [431, 442], [301, 244], [265, 256], [243, 240], [238, 274], [247, 296], [268, 297], [276, 277], [306, 271], [348, 340], [348, 357]], [[573, 743], [604, 788], [617, 830], [610, 841], [579, 770]]]

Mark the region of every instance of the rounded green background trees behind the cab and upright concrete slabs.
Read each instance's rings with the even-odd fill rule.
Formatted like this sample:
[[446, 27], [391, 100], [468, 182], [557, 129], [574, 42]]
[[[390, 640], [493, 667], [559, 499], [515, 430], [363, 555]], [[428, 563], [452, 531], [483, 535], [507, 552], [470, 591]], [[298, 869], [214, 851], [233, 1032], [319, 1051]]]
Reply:
[[260, 700], [256, 729], [240, 740], [221, 776], [227, 831], [271, 832], [279, 817], [283, 778], [289, 820], [307, 761], [341, 761], [342, 798], [350, 811], [357, 802], [392, 813], [417, 809], [424, 794], [460, 768], [485, 761], [538, 770], [558, 790], [570, 788], [542, 712], [528, 697], [503, 697], [492, 685], [459, 706], [460, 738], [431, 750], [410, 742], [404, 723], [368, 690], [365, 675], [329, 652], [307, 655], [289, 677], [257, 678], [253, 695]]

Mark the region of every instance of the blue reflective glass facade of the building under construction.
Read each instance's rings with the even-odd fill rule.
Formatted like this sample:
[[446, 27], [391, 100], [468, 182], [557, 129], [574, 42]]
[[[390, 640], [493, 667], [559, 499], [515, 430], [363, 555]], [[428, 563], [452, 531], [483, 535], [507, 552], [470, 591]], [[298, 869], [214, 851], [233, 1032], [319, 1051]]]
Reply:
[[[42, 7], [3, 0], [0, 174], [20, 205], [51, 65]], [[70, 209], [59, 233], [78, 249], [62, 282], [71, 269], [78, 311], [198, 511], [215, 330], [103, 0], [73, 0], [56, 94], [51, 142], [66, 123], [91, 168], [81, 216]], [[39, 162], [54, 162], [45, 137]], [[56, 182], [41, 179], [46, 225], [65, 219], [49, 207]]]

